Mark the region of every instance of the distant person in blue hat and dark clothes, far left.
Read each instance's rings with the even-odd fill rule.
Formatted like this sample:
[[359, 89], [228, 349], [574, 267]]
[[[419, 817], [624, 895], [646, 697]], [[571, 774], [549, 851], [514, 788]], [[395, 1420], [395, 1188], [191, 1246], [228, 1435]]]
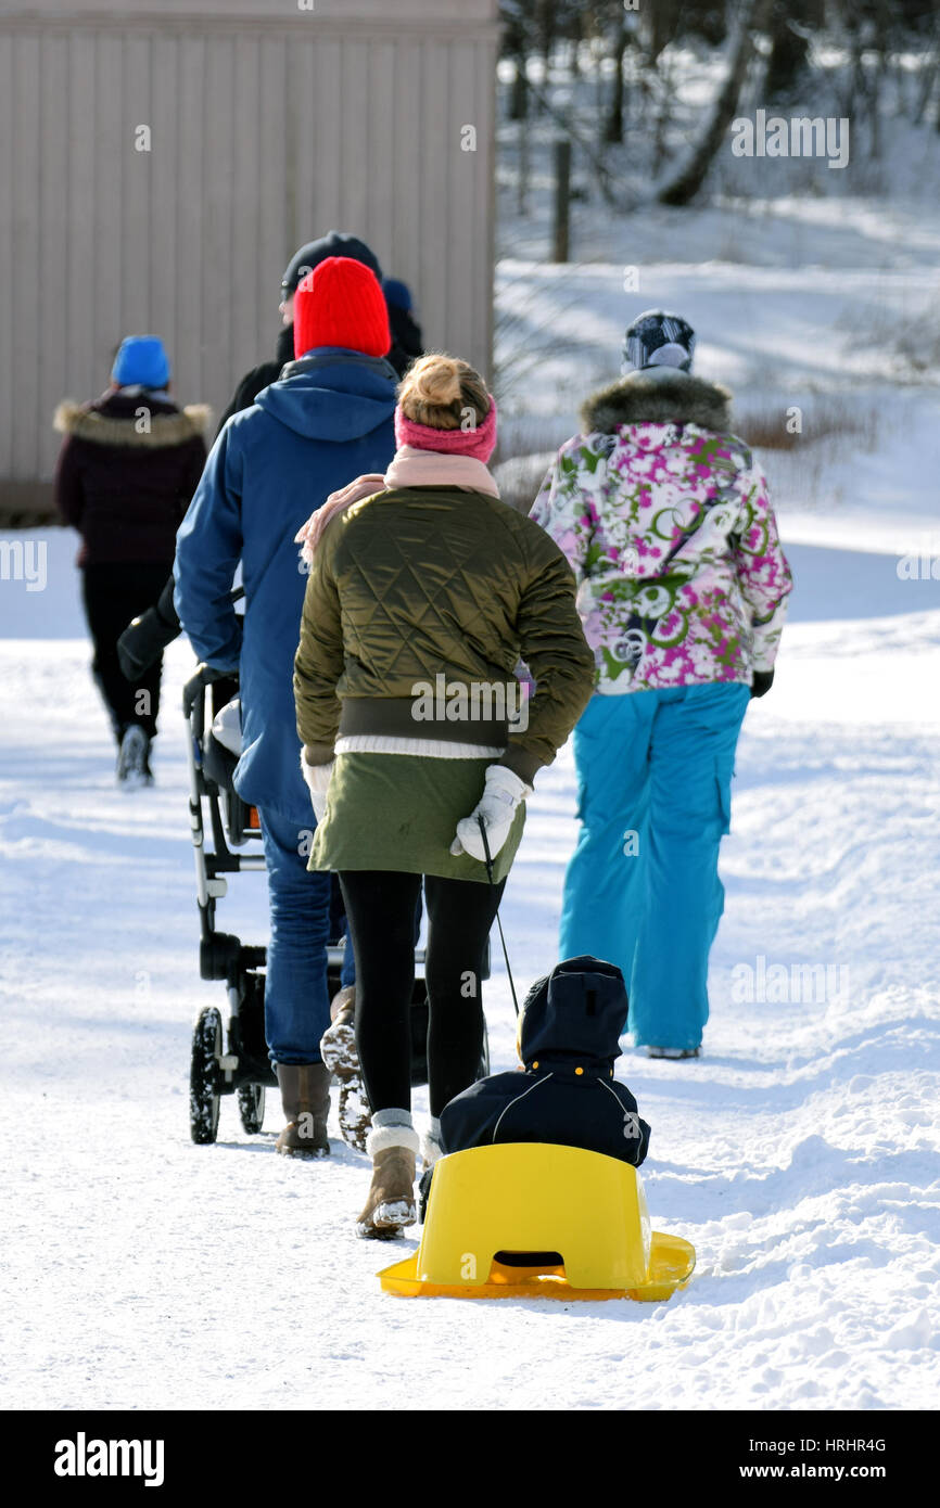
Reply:
[[157, 602], [205, 464], [210, 410], [202, 404], [178, 409], [169, 379], [163, 342], [155, 335], [131, 335], [118, 348], [103, 397], [84, 404], [66, 398], [53, 421], [65, 436], [56, 505], [81, 535], [77, 564], [92, 674], [118, 743], [124, 790], [152, 784], [163, 656], [130, 682], [118, 662], [118, 638], [128, 618]]

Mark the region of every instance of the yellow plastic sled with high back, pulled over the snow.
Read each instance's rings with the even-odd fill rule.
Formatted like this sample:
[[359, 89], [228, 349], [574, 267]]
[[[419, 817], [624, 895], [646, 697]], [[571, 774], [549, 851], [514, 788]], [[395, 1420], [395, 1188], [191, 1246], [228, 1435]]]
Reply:
[[[504, 1261], [519, 1253], [533, 1265]], [[685, 1288], [694, 1265], [688, 1241], [650, 1231], [635, 1167], [507, 1142], [441, 1158], [418, 1252], [379, 1279], [410, 1298], [653, 1301]]]

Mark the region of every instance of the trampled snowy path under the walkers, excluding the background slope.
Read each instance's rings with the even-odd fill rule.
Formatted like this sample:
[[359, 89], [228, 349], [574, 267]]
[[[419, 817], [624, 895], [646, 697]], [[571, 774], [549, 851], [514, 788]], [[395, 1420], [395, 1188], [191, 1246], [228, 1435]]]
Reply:
[[[706, 1057], [625, 1044], [653, 1223], [694, 1243], [691, 1286], [656, 1306], [418, 1303], [374, 1277], [413, 1243], [352, 1235], [368, 1172], [338, 1137], [329, 1163], [294, 1164], [273, 1105], [252, 1139], [226, 1101], [220, 1142], [190, 1145], [190, 1021], [220, 998], [196, 968], [190, 659], [174, 647], [158, 786], [119, 796], [71, 540], [48, 540], [50, 590], [2, 588], [20, 635], [0, 639], [5, 1405], [935, 1407], [935, 590], [868, 621], [804, 605], [741, 743]], [[524, 988], [554, 959], [572, 795], [566, 751], [507, 891]], [[260, 876], [220, 918], [263, 939]], [[846, 988], [733, 1000], [742, 965], [830, 967]], [[496, 961], [487, 1015], [508, 1065]]]

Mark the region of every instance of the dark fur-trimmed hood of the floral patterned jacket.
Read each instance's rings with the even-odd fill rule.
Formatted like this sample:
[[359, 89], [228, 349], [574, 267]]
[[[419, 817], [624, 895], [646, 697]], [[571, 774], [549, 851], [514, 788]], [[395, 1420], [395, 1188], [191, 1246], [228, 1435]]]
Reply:
[[585, 434], [613, 434], [620, 424], [699, 424], [729, 434], [732, 395], [727, 388], [665, 366], [631, 372], [581, 406]]

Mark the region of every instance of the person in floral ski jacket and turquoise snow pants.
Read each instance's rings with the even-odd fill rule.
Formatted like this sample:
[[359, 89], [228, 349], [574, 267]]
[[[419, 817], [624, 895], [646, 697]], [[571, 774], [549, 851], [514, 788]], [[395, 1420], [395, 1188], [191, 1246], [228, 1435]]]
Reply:
[[724, 906], [738, 733], [762, 697], [792, 576], [730, 394], [691, 374], [677, 315], [640, 315], [531, 510], [570, 561], [594, 695], [575, 728], [581, 831], [560, 956], [622, 970], [650, 1057], [697, 1057]]

